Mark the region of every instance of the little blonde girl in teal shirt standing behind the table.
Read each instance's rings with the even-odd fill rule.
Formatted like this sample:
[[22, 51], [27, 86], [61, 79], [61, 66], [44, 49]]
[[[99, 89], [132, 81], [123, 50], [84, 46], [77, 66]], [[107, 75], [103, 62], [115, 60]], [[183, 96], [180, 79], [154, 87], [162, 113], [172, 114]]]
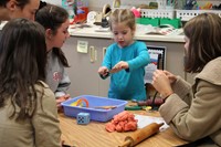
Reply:
[[110, 18], [115, 43], [107, 48], [98, 73], [110, 75], [108, 97], [118, 99], [146, 99], [145, 66], [150, 62], [144, 42], [134, 41], [135, 15], [130, 10], [116, 9]]

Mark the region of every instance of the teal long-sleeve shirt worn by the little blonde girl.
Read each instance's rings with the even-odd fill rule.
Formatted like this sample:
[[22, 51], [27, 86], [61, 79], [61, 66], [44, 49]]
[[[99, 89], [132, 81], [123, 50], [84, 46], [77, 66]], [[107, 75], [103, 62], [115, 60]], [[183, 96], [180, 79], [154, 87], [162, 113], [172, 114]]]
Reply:
[[129, 69], [110, 74], [108, 97], [146, 99], [144, 75], [145, 66], [150, 62], [146, 44], [135, 41], [122, 49], [117, 43], [113, 43], [107, 48], [102, 65], [112, 70], [120, 61], [127, 62]]

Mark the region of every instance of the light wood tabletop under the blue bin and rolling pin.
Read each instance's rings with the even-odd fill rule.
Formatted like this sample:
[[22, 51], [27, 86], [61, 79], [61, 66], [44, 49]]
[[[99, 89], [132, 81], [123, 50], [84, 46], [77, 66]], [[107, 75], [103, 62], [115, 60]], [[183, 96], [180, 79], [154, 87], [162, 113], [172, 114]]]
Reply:
[[[134, 111], [133, 113], [159, 116], [158, 112]], [[105, 129], [106, 123], [91, 120], [87, 125], [77, 125], [74, 117], [67, 117], [63, 113], [59, 114], [59, 119], [64, 145], [71, 147], [117, 147], [123, 144], [126, 136], [133, 134], [133, 132], [108, 133]], [[145, 139], [136, 147], [172, 147], [183, 144], [187, 144], [187, 141], [180, 139], [169, 127]]]

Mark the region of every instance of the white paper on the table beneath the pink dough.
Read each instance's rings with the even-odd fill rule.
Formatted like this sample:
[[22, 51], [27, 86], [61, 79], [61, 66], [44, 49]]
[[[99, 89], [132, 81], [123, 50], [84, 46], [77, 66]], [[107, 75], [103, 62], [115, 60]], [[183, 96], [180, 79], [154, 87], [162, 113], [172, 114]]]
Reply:
[[154, 117], [154, 116], [145, 116], [145, 115], [137, 115], [135, 114], [135, 119], [137, 119], [138, 128], [144, 128], [147, 125], [150, 125], [151, 123], [164, 123], [164, 125], [160, 127], [160, 132], [165, 130], [169, 126], [166, 124], [165, 119], [162, 117]]

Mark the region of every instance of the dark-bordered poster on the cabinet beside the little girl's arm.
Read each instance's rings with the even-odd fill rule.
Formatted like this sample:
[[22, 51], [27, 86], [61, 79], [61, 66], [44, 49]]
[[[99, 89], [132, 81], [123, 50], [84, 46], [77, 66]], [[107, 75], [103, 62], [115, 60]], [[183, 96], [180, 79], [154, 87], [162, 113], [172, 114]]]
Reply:
[[166, 69], [166, 46], [154, 46], [147, 45], [149, 55], [150, 55], [150, 63], [145, 66], [145, 84], [152, 82], [152, 73], [159, 69]]

